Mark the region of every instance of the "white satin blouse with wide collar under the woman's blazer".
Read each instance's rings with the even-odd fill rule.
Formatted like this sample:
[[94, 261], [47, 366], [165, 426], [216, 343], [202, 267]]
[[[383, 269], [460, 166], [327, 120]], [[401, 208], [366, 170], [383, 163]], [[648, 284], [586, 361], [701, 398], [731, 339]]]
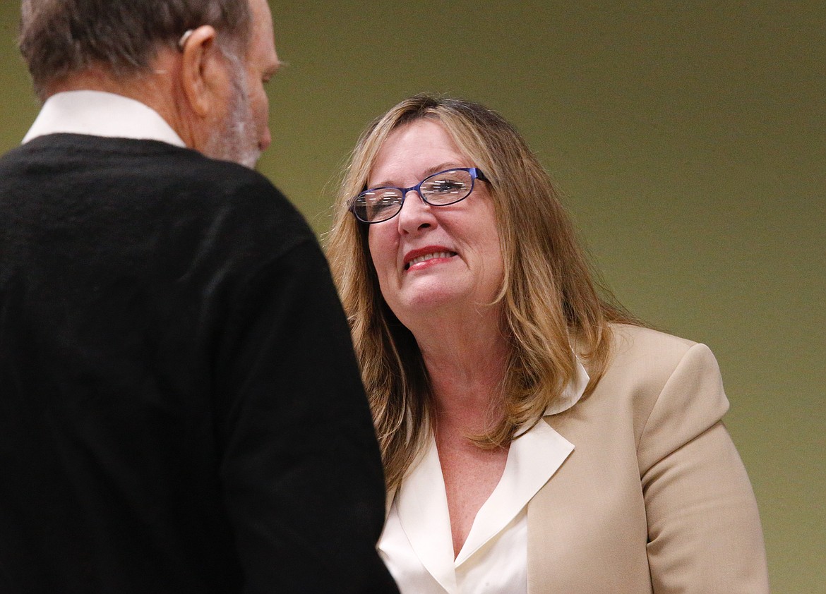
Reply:
[[[545, 414], [571, 408], [582, 397], [588, 379], [578, 364], [577, 380]], [[527, 504], [573, 449], [545, 422], [513, 441], [502, 478], [453, 559], [448, 499], [431, 436], [425, 455], [396, 491], [378, 542], [379, 554], [401, 594], [526, 594]]]

